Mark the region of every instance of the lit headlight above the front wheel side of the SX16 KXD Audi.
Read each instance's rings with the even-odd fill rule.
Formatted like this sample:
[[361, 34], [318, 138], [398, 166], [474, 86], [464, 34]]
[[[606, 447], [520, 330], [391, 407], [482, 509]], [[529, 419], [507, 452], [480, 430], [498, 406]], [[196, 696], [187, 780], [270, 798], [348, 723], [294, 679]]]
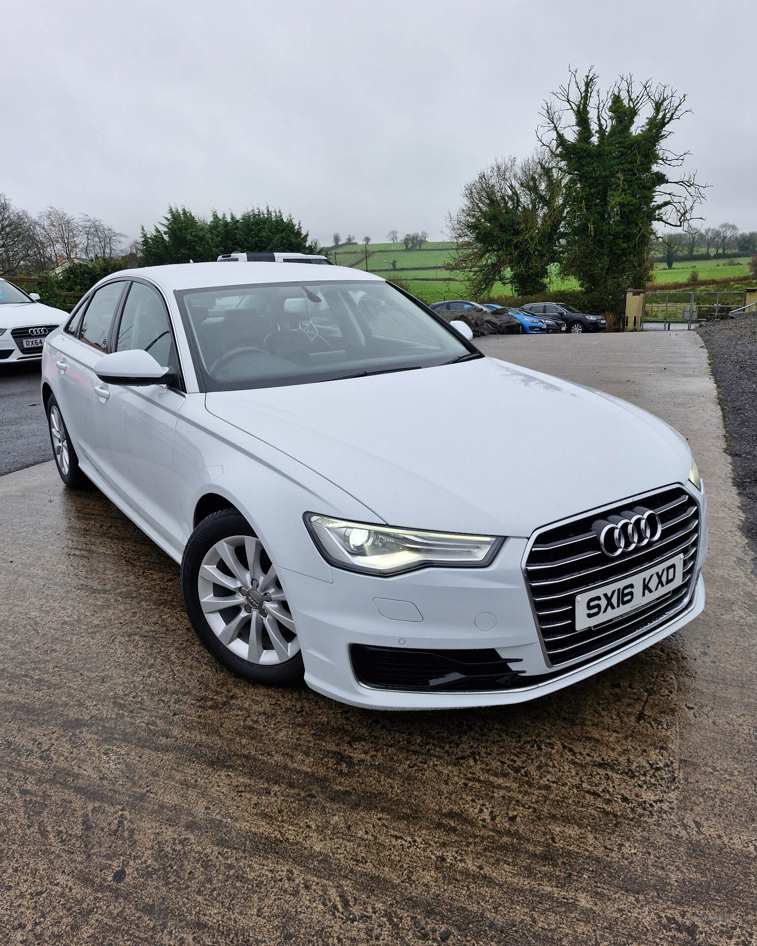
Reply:
[[326, 561], [339, 569], [395, 575], [423, 566], [481, 568], [502, 545], [495, 535], [456, 535], [346, 522], [315, 513], [305, 524]]

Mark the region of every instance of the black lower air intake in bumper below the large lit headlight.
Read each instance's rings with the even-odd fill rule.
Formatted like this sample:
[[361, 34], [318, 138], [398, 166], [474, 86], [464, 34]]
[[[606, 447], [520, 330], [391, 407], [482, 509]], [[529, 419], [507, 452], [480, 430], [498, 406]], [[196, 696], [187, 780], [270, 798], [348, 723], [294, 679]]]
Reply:
[[414, 650], [352, 644], [350, 658], [358, 682], [382, 690], [409, 692], [476, 692], [508, 690], [518, 684], [523, 671], [493, 649]]

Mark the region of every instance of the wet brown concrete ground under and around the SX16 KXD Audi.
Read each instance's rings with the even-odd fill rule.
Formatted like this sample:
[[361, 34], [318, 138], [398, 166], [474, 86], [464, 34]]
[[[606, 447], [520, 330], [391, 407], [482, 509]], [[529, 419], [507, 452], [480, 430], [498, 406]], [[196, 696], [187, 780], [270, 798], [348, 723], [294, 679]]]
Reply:
[[757, 583], [680, 335], [482, 340], [670, 419], [711, 508], [705, 613], [514, 708], [250, 688], [107, 499], [52, 464], [0, 479], [0, 938], [754, 942]]

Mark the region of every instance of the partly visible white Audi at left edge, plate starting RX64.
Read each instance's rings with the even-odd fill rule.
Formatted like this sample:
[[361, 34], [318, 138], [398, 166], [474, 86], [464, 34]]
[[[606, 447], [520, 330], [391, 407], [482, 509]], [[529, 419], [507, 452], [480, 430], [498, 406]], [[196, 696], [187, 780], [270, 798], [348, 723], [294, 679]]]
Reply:
[[44, 306], [36, 292], [0, 279], [0, 362], [39, 361], [45, 337], [66, 319], [68, 312]]

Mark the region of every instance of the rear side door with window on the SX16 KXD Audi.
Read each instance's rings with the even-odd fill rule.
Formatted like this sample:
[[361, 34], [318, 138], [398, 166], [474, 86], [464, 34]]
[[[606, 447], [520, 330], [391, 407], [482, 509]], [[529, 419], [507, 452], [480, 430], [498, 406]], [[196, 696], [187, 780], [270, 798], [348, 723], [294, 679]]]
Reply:
[[112, 321], [127, 284], [124, 280], [96, 289], [81, 318], [55, 340], [55, 394], [80, 460], [102, 472], [97, 460], [95, 364], [108, 351]]

